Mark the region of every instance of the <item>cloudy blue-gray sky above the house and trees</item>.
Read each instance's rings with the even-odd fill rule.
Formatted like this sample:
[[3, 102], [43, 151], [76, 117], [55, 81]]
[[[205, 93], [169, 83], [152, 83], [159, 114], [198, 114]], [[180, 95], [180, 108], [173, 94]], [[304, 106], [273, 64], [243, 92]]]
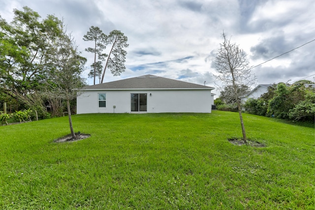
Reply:
[[[107, 69], [104, 82], [153, 74], [206, 84], [218, 97], [214, 60], [223, 31], [251, 66], [299, 47], [254, 67], [257, 84], [315, 81], [314, 0], [0, 0], [0, 15], [11, 22], [13, 9], [23, 6], [42, 18], [63, 19], [88, 59], [86, 78], [94, 55], [85, 51], [93, 42], [83, 36], [95, 26], [128, 37], [126, 71], [113, 76]], [[93, 85], [93, 79], [87, 82]]]

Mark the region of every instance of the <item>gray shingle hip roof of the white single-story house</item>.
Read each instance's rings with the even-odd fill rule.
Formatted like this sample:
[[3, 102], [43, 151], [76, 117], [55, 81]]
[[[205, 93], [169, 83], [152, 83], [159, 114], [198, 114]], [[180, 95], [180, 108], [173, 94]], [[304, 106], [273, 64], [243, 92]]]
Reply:
[[208, 89], [214, 88], [197, 85], [193, 83], [183, 82], [179, 80], [168, 79], [164, 77], [158, 77], [154, 75], [144, 75], [139, 77], [133, 77], [124, 80], [118, 80], [114, 82], [102, 83], [98, 85], [86, 86], [83, 90], [139, 90], [139, 89]]

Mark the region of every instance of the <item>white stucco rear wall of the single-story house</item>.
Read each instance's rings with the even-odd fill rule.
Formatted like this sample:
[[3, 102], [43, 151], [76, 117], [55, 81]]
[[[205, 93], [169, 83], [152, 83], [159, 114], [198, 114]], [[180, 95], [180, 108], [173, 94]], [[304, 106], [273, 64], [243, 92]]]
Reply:
[[[98, 93], [106, 93], [106, 108], [98, 107]], [[77, 114], [131, 113], [131, 93], [147, 93], [146, 113], [211, 113], [211, 90], [90, 90], [77, 97]]]

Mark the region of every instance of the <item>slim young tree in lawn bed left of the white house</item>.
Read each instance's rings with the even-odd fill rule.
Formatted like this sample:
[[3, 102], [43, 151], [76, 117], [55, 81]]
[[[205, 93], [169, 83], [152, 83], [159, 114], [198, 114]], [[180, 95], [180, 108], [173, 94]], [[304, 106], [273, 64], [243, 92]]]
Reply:
[[57, 38], [50, 49], [50, 56], [47, 57], [51, 69], [47, 94], [66, 101], [70, 132], [72, 138], [76, 138], [72, 126], [70, 100], [76, 98], [77, 90], [85, 85], [81, 73], [87, 60], [79, 55], [71, 34], [67, 34], [63, 26], [61, 27], [63, 33]]

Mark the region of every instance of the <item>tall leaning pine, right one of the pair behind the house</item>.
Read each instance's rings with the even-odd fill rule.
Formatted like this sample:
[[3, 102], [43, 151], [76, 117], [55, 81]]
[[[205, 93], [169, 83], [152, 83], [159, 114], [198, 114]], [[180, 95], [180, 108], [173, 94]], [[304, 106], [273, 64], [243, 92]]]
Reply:
[[102, 73], [101, 83], [103, 83], [107, 67], [111, 70], [114, 76], [118, 76], [125, 71], [127, 52], [123, 48], [128, 47], [127, 40], [127, 36], [125, 36], [120, 30], [113, 30], [107, 36], [106, 45], [110, 44], [112, 47]]

